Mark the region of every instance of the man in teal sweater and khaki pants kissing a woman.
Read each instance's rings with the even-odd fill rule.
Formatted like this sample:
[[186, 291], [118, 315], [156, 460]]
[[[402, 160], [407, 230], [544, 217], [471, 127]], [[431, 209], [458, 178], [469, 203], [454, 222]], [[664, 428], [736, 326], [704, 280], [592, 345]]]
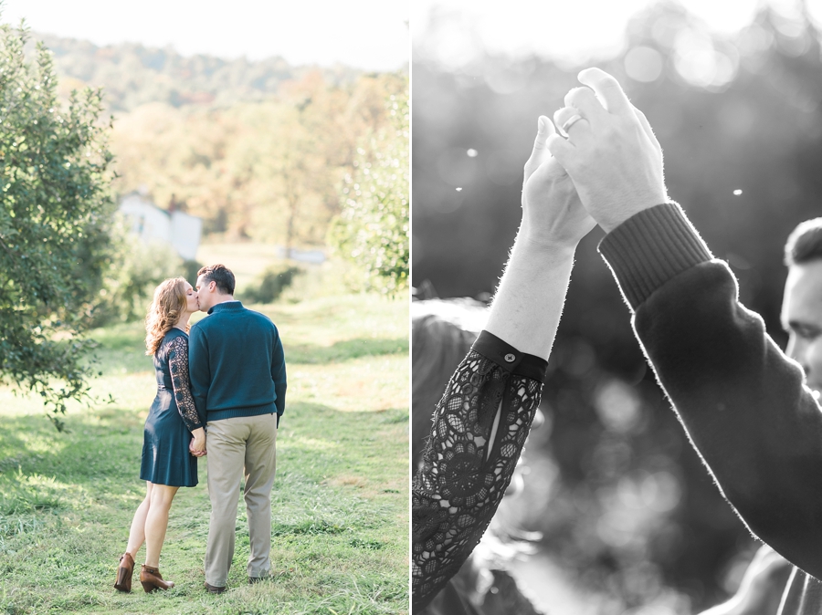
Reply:
[[234, 298], [234, 274], [222, 265], [197, 272], [200, 309], [191, 328], [189, 374], [197, 412], [206, 419], [211, 520], [205, 547], [205, 588], [225, 591], [234, 558], [237, 495], [248, 514], [248, 581], [269, 576], [271, 488], [286, 369], [277, 327]]

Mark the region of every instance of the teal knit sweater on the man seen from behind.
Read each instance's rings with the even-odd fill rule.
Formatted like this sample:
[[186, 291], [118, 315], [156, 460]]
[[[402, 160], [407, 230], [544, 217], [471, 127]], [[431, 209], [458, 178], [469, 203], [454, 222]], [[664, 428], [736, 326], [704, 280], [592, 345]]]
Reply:
[[286, 368], [277, 327], [239, 301], [218, 303], [189, 333], [197, 412], [207, 421], [285, 411]]

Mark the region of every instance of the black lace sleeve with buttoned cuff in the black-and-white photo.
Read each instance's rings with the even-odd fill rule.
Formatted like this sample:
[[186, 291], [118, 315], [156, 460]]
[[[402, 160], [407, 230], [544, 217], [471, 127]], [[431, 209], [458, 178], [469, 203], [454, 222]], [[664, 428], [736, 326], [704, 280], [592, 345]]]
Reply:
[[456, 574], [497, 511], [539, 406], [546, 367], [484, 331], [448, 382], [412, 491], [414, 610]]

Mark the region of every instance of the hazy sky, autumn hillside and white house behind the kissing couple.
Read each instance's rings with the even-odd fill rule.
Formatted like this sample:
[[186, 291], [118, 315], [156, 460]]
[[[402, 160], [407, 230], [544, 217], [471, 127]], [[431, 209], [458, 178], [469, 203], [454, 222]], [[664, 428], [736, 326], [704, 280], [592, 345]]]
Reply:
[[2, 17], [25, 19], [31, 60], [51, 51], [63, 105], [102, 89], [111, 118], [118, 266], [95, 324], [142, 318], [157, 281], [205, 263], [258, 303], [406, 283], [407, 172], [368, 174], [407, 164], [404, 3], [5, 0]]

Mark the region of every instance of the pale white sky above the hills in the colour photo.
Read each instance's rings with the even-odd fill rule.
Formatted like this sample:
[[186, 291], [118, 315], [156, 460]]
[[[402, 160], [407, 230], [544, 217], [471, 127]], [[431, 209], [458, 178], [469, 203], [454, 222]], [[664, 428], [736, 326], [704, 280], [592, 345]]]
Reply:
[[281, 56], [291, 65], [406, 66], [408, 0], [5, 0], [2, 19], [35, 32], [172, 46], [184, 56]]

